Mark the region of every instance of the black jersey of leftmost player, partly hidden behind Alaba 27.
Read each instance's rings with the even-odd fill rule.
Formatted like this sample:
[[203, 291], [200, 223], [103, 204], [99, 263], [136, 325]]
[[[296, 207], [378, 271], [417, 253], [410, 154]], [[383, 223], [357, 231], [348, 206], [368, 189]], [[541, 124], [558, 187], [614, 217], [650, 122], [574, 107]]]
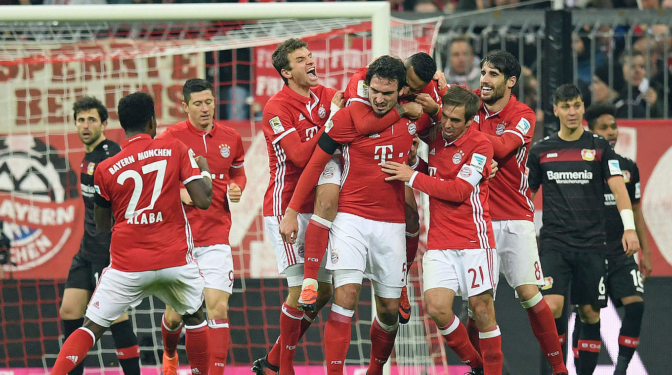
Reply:
[[82, 160], [80, 182], [84, 199], [84, 236], [79, 251], [88, 260], [110, 262], [110, 239], [112, 233], [100, 234], [93, 219], [93, 171], [99, 162], [120, 152], [122, 148], [111, 140], [104, 140], [93, 151], [87, 152]]

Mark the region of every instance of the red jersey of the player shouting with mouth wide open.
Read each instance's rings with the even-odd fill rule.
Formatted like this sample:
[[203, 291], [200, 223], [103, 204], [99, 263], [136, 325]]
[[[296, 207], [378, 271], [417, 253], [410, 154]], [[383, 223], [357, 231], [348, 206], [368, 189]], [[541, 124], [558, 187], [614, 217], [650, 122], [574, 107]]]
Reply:
[[[335, 89], [317, 85], [310, 88], [310, 97], [304, 97], [284, 85], [266, 103], [261, 128], [266, 138], [271, 178], [263, 198], [264, 216], [284, 214], [303, 170], [288, 160], [280, 140], [293, 131], [298, 133], [301, 142], [313, 138], [329, 118], [335, 93]], [[312, 196], [306, 199], [299, 212], [312, 212], [313, 201]]]

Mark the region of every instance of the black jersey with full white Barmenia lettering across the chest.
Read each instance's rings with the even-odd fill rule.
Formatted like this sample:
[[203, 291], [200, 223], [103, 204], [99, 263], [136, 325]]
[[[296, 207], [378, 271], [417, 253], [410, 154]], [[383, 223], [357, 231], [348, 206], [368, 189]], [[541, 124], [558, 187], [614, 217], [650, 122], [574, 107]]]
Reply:
[[605, 180], [621, 175], [616, 153], [604, 138], [584, 131], [575, 141], [558, 134], [530, 148], [530, 189], [544, 185], [540, 239], [579, 252], [603, 251]]

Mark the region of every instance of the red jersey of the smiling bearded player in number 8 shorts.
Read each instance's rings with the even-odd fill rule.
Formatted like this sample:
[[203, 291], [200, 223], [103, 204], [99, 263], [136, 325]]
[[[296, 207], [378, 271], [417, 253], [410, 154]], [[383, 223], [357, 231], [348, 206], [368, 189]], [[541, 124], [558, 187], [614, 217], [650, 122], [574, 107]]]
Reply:
[[535, 122], [534, 111], [513, 95], [501, 111], [488, 113], [484, 105], [474, 117], [473, 124], [492, 141], [499, 163], [490, 181], [490, 214], [495, 220], [534, 220], [525, 165]]

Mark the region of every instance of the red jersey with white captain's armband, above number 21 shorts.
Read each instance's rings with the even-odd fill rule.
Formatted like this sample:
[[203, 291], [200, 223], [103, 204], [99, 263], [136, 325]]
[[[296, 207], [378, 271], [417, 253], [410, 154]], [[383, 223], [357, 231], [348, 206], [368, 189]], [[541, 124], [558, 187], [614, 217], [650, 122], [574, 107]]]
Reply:
[[[493, 146], [474, 126], [453, 142], [439, 137], [429, 144], [428, 174], [416, 172], [409, 182], [429, 195], [428, 249], [495, 248], [488, 205], [488, 176]], [[467, 186], [459, 198], [456, 191]]]

